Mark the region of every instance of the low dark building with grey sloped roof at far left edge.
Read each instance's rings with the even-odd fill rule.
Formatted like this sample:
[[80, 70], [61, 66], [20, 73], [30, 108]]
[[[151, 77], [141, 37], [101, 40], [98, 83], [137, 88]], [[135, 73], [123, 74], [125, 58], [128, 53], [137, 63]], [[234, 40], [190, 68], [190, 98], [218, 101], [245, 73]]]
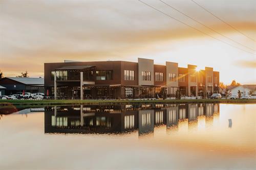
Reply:
[[44, 92], [44, 78], [5, 77], [0, 80], [0, 85], [5, 87], [5, 95], [17, 92]]

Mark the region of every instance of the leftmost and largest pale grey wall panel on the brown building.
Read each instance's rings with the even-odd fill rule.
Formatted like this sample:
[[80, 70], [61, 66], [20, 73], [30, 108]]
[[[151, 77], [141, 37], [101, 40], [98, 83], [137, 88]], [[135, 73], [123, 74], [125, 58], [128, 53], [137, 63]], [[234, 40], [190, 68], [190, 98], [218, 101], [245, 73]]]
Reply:
[[[150, 71], [151, 81], [143, 81], [141, 71]], [[138, 84], [154, 85], [154, 60], [138, 58]]]

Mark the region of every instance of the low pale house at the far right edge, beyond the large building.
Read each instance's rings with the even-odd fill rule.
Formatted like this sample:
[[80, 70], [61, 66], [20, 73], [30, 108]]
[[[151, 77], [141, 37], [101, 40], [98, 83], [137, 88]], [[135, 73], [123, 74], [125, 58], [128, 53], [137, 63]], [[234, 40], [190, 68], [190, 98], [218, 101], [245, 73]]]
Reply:
[[238, 91], [242, 93], [242, 96], [250, 95], [256, 91], [256, 85], [240, 85], [240, 86], [228, 86], [228, 93], [238, 94]]

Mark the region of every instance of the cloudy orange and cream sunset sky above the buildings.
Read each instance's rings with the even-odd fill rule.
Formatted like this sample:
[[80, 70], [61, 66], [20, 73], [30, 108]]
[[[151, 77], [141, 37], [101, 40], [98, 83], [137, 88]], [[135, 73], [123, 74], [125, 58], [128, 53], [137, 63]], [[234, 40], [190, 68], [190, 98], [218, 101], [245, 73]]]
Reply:
[[194, 1], [229, 26], [190, 0], [163, 0], [183, 14], [142, 1], [170, 17], [132, 0], [0, 1], [0, 69], [44, 77], [44, 63], [140, 57], [214, 67], [225, 84], [256, 84], [256, 0]]

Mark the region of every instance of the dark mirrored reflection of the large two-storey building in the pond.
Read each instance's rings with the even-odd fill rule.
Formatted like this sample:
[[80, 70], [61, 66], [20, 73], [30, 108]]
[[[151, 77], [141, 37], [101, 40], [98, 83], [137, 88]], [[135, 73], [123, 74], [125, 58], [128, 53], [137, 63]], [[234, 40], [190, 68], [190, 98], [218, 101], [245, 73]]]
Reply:
[[45, 133], [122, 133], [138, 130], [141, 135], [154, 132], [154, 127], [158, 125], [166, 125], [168, 131], [177, 128], [197, 130], [203, 122], [211, 126], [217, 114], [219, 104], [55, 106], [45, 108]]

